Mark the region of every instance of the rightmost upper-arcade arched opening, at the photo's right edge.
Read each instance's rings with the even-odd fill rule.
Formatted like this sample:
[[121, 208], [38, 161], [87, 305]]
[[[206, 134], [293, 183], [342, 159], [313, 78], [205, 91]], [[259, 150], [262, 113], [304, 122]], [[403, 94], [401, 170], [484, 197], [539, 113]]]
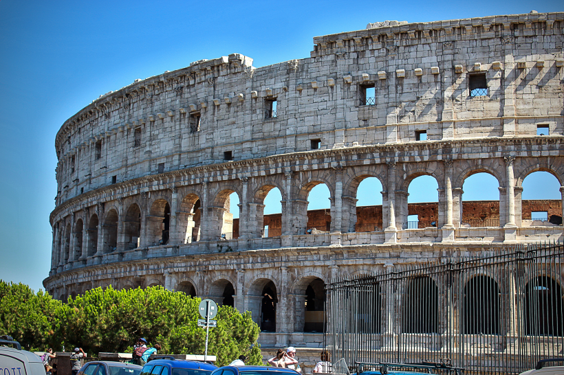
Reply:
[[562, 225], [562, 194], [560, 183], [553, 174], [542, 171], [532, 172], [525, 177], [522, 187], [521, 225], [523, 227]]

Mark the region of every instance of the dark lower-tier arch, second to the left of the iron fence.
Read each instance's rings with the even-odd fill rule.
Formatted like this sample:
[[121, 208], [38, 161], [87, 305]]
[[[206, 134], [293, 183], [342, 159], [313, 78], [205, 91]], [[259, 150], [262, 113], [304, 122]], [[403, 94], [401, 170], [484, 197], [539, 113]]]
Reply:
[[263, 332], [276, 332], [278, 289], [270, 278], [256, 277], [247, 295], [247, 310]]

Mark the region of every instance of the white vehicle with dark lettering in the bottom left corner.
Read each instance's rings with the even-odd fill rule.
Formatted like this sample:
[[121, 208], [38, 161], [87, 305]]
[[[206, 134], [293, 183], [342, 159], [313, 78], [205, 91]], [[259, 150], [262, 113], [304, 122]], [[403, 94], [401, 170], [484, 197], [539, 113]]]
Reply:
[[14, 341], [12, 337], [2, 336], [0, 337], [0, 374], [45, 375], [45, 367], [40, 356], [21, 350], [19, 342]]

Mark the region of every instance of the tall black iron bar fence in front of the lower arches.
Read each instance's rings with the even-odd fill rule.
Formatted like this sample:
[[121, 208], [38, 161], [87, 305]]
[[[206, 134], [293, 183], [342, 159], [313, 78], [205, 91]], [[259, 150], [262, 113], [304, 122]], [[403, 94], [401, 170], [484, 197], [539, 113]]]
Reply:
[[332, 361], [519, 374], [564, 356], [564, 247], [519, 245], [327, 284]]

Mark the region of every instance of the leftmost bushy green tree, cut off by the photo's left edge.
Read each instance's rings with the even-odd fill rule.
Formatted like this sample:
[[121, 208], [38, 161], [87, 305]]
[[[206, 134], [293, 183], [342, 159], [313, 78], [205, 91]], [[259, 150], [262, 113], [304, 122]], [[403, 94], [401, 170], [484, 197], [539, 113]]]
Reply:
[[7, 334], [26, 350], [60, 349], [56, 332], [63, 304], [48, 293], [0, 280], [0, 335]]

